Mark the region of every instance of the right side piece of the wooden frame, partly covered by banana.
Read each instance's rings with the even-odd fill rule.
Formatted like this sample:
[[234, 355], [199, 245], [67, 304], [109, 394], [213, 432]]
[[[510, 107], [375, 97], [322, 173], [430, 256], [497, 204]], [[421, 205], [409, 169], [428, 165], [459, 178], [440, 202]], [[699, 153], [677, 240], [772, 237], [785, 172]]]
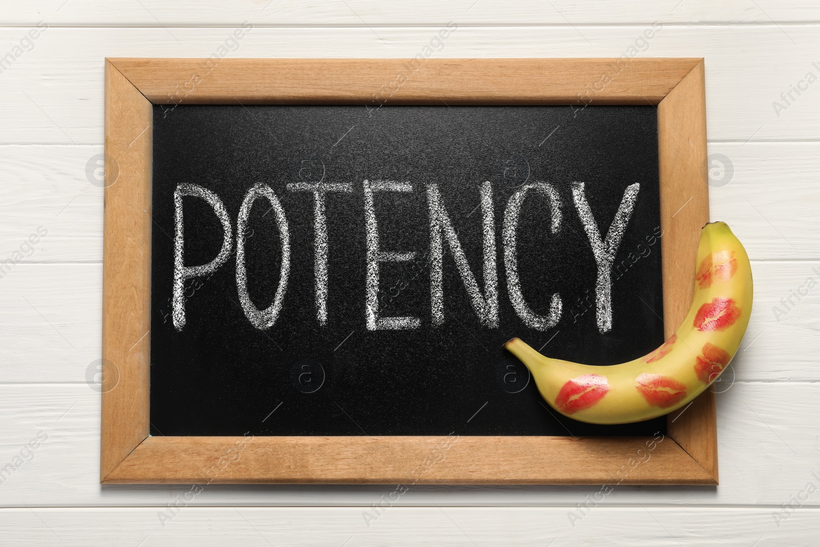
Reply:
[[[663, 318], [667, 338], [689, 311], [700, 229], [708, 222], [706, 85], [704, 62], [658, 104], [661, 185]], [[713, 390], [690, 411], [669, 415], [667, 431], [717, 481], [717, 426]]]

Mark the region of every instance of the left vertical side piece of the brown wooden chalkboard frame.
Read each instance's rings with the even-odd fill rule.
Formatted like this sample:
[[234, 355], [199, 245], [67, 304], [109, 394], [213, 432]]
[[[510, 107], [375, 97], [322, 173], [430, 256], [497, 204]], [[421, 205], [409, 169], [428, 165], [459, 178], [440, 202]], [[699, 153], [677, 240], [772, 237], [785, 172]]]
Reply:
[[100, 478], [148, 436], [151, 103], [106, 63]]

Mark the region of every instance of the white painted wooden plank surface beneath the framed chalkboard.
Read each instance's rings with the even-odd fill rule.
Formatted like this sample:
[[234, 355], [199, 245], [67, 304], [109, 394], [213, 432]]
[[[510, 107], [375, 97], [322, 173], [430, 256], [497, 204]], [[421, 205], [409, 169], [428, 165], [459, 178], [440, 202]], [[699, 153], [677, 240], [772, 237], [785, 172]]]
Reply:
[[[244, 21], [253, 29], [231, 42]], [[744, 242], [756, 289], [717, 388], [720, 485], [619, 487], [603, 499], [600, 486], [419, 486], [375, 521], [362, 513], [394, 486], [213, 485], [193, 499], [189, 486], [102, 488], [100, 396], [87, 376], [101, 351], [103, 58], [221, 46], [228, 57], [412, 57], [449, 21], [458, 30], [435, 57], [633, 46], [705, 57], [712, 218]], [[815, 80], [816, 0], [4, 0], [0, 470], [13, 469], [0, 472], [0, 545], [818, 545]], [[47, 234], [26, 244], [40, 226]]]

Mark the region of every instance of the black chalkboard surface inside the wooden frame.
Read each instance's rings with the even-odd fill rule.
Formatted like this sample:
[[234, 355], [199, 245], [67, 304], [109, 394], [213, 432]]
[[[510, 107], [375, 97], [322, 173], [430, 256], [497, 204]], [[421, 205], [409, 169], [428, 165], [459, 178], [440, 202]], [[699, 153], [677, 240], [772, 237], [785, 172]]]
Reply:
[[663, 342], [657, 128], [649, 106], [155, 105], [152, 435], [666, 431], [559, 417], [502, 348]]

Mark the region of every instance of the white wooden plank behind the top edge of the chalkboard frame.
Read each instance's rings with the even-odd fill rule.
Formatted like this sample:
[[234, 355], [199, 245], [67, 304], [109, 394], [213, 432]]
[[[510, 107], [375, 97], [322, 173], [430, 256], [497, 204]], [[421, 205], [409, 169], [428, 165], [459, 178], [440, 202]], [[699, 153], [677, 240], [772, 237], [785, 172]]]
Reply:
[[[481, 0], [483, 2], [483, 0]], [[476, 4], [474, 9], [481, 6]], [[68, 9], [73, 2], [68, 2]], [[687, 2], [681, 4], [683, 9]], [[272, 9], [272, 7], [271, 7]], [[62, 13], [62, 10], [61, 10]], [[581, 34], [578, 34], [578, 30]], [[634, 46], [643, 28], [592, 26], [459, 27], [430, 58], [612, 57]], [[18, 43], [23, 29], [0, 28], [0, 41]], [[100, 52], [117, 57], [413, 57], [438, 29], [254, 28], [238, 47], [225, 48], [233, 29], [51, 28], [2, 74], [0, 144], [102, 144], [103, 71]], [[784, 31], [786, 34], [784, 34]], [[584, 39], [584, 36], [586, 39]], [[589, 40], [589, 41], [587, 41]], [[766, 43], [766, 48], [758, 47]], [[799, 44], [799, 45], [796, 45]], [[816, 85], [780, 116], [772, 102], [814, 71], [818, 25], [664, 27], [637, 57], [706, 57], [709, 135], [745, 143], [820, 139]], [[169, 53], [172, 52], [172, 53]], [[385, 83], [389, 83], [388, 80]], [[25, 93], [21, 92], [25, 89]], [[59, 89], [54, 93], [53, 89]], [[737, 93], [744, 89], [744, 93]], [[744, 203], [745, 204], [745, 203]], [[749, 207], [745, 204], [745, 207]], [[759, 206], [758, 206], [759, 208]], [[754, 212], [754, 211], [752, 211]]]

